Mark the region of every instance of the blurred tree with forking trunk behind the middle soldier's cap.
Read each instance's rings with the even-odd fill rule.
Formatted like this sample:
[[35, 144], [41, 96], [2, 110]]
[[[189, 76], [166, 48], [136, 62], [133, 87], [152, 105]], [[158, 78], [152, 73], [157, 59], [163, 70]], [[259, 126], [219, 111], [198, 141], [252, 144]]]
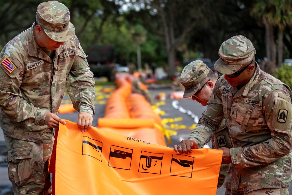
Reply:
[[164, 39], [168, 54], [168, 76], [175, 76], [177, 48], [194, 27], [210, 14], [206, 12], [206, 7], [211, 1], [135, 0], [131, 3], [130, 16], [140, 18], [147, 30]]

